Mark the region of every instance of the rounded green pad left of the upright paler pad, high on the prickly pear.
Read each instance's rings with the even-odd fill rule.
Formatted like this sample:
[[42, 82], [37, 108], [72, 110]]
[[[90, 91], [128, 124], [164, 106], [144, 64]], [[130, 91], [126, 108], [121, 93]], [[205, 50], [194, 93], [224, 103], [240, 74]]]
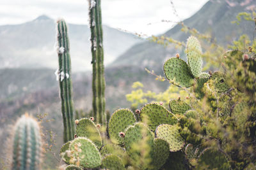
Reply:
[[190, 87], [194, 83], [188, 64], [179, 58], [173, 57], [164, 62], [164, 74], [168, 80], [174, 81], [175, 85]]

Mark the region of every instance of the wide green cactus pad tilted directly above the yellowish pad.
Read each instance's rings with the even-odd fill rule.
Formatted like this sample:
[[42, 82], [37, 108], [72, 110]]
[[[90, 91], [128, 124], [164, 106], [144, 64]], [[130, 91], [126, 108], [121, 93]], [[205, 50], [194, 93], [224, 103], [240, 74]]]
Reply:
[[145, 122], [148, 128], [153, 132], [156, 131], [158, 125], [173, 125], [177, 123], [177, 118], [174, 117], [170, 111], [157, 103], [145, 104], [140, 111], [140, 117], [142, 122]]

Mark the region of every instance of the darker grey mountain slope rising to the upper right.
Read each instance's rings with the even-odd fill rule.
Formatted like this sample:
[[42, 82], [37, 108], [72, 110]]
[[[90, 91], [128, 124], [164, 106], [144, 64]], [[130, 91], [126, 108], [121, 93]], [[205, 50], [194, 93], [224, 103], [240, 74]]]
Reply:
[[[232, 24], [241, 11], [250, 12], [256, 8], [256, 0], [211, 0], [208, 1], [195, 15], [184, 20], [184, 24], [195, 28], [199, 32], [211, 34], [217, 42], [222, 45], [231, 43], [242, 34], [253, 37], [254, 24], [252, 22], [241, 22], [240, 25]], [[181, 25], [175, 25], [164, 33], [164, 36], [172, 37], [179, 41], [186, 41], [189, 34], [180, 31]], [[143, 42], [132, 46], [124, 54], [120, 55], [110, 66], [136, 66], [148, 67], [161, 71], [164, 60], [180, 53], [184, 57], [184, 49], [181, 51], [174, 45], [164, 47], [156, 43]], [[161, 72], [162, 73], [162, 72]]]

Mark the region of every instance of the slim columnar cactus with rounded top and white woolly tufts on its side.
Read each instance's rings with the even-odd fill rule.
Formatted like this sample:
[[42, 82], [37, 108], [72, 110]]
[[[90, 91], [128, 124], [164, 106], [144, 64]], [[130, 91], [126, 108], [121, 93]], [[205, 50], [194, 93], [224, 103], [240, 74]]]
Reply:
[[73, 116], [71, 61], [69, 39], [65, 20], [59, 19], [56, 24], [56, 49], [59, 57], [59, 69], [56, 71], [60, 82], [61, 112], [64, 126], [64, 142], [74, 139], [75, 127]]

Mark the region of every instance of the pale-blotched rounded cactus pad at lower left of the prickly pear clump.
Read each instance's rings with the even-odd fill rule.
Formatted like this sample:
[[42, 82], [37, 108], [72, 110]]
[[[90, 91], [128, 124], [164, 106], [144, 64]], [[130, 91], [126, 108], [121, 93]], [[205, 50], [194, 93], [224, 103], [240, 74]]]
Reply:
[[79, 137], [71, 141], [69, 147], [70, 164], [94, 168], [101, 164], [100, 153], [90, 139]]

